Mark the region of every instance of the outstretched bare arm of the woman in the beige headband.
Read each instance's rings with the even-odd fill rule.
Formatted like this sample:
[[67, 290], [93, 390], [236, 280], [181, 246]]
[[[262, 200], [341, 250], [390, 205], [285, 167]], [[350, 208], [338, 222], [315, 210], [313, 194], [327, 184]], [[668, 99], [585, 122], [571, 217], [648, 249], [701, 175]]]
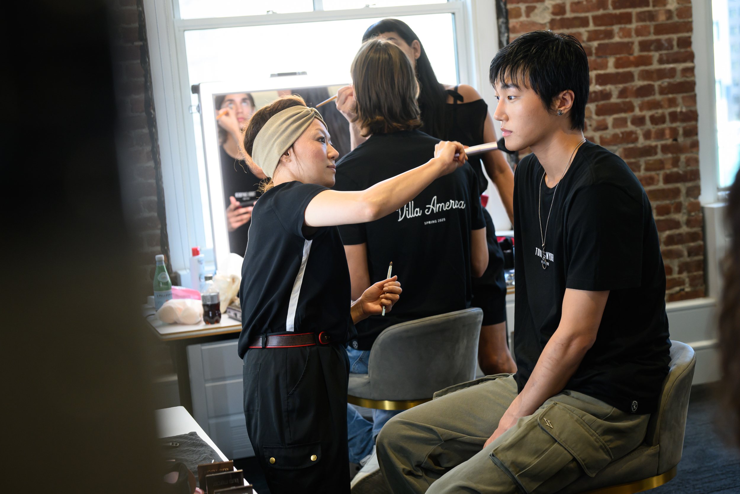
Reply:
[[[460, 153], [457, 158], [455, 153]], [[434, 158], [420, 167], [388, 178], [366, 190], [323, 190], [304, 213], [307, 227], [367, 223], [393, 213], [428, 187], [431, 182], [454, 172], [465, 163], [465, 149], [459, 142], [443, 141], [434, 147]]]

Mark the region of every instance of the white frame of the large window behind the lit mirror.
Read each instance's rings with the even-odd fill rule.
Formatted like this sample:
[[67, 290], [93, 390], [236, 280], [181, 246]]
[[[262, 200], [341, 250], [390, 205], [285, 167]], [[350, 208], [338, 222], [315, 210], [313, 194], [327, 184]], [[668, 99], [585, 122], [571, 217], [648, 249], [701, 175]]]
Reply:
[[[320, 7], [320, 2], [314, 1], [314, 5]], [[452, 13], [459, 82], [476, 88], [489, 107], [496, 103], [494, 90], [488, 84], [488, 66], [498, 50], [496, 7], [491, 0], [212, 19], [179, 19], [178, 0], [144, 0], [144, 13], [173, 270], [187, 270], [190, 247], [202, 246], [206, 236], [213, 236], [212, 231], [206, 232], [202, 213], [203, 201], [209, 199], [201, 194], [198, 179], [199, 171], [204, 170], [198, 170], [195, 139], [201, 136], [195, 135], [189, 116], [192, 100], [185, 53], [186, 30]], [[203, 81], [192, 83], [200, 82]]]

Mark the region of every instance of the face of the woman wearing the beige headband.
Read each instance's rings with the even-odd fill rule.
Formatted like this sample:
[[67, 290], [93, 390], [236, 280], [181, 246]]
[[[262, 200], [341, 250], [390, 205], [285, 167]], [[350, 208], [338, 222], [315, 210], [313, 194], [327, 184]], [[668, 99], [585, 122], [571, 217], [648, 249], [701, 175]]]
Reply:
[[288, 163], [281, 163], [280, 166], [291, 167], [292, 173], [300, 177], [304, 184], [334, 187], [334, 175], [337, 173], [334, 160], [339, 153], [332, 147], [329, 131], [318, 119], [314, 119], [293, 143], [292, 155]]

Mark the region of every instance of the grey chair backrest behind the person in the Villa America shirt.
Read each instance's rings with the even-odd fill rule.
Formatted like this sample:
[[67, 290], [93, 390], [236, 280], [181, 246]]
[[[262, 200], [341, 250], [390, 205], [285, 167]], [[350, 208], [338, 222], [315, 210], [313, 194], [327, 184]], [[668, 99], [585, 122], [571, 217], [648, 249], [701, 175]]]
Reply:
[[374, 400], [431, 398], [435, 391], [475, 378], [483, 311], [457, 310], [386, 328], [369, 359]]

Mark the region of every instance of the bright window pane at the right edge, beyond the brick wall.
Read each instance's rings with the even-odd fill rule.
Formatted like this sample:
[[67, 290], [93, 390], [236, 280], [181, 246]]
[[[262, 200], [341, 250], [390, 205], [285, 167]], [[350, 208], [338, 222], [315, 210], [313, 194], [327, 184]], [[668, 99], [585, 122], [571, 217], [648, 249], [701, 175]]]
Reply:
[[719, 187], [730, 187], [740, 165], [740, 1], [713, 0], [714, 80]]

